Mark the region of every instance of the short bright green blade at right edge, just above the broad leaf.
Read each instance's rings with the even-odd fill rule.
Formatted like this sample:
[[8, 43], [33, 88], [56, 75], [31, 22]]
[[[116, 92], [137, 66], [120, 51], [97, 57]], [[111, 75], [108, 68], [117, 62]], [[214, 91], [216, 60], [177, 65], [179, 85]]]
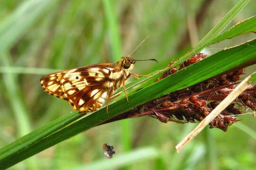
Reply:
[[250, 17], [244, 21], [239, 22], [237, 25], [232, 26], [228, 31], [225, 31], [211, 42], [209, 42], [209, 45], [250, 32], [256, 33], [256, 16]]

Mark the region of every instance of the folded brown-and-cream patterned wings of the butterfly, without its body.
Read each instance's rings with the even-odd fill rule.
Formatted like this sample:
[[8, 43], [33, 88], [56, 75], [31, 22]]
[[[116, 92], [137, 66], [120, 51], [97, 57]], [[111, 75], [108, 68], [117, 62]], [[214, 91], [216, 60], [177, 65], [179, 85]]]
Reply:
[[56, 72], [43, 77], [41, 85], [47, 93], [69, 102], [74, 110], [95, 111], [113, 91], [111, 66], [98, 64]]

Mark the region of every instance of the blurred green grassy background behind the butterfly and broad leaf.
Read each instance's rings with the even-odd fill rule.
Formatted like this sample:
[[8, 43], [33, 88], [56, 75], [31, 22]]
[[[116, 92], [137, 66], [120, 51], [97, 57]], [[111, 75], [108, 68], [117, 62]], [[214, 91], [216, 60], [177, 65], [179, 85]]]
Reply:
[[[71, 106], [45, 93], [39, 80], [55, 70], [116, 62], [133, 54], [133, 70], [165, 68], [194, 46], [238, 0], [0, 0], [0, 147], [64, 114]], [[230, 26], [255, 15], [252, 0]], [[205, 49], [212, 54], [248, 41], [247, 34]], [[255, 67], [255, 66], [254, 66]], [[256, 170], [256, 124], [250, 115], [228, 132], [206, 128], [181, 153], [175, 145], [196, 124], [150, 117], [94, 127], [13, 170]], [[114, 146], [108, 160], [102, 144]]]

